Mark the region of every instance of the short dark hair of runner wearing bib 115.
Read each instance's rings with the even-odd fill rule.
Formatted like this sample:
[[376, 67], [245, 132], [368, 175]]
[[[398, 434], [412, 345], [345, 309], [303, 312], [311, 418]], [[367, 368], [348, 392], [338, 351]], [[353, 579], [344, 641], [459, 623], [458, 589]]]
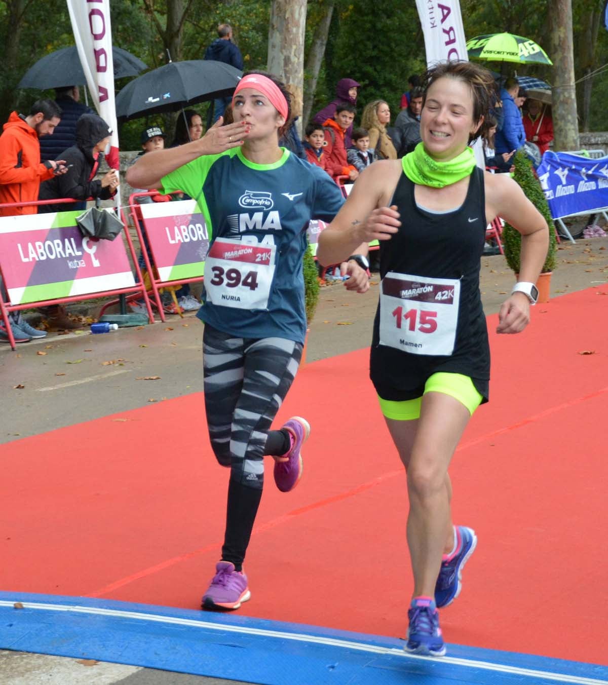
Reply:
[[425, 90], [422, 100], [423, 106], [427, 101], [430, 86], [443, 77], [464, 81], [469, 86], [473, 97], [473, 121], [475, 123], [481, 121], [477, 132], [469, 135], [469, 142], [483, 136], [488, 129], [487, 116], [490, 114], [490, 106], [496, 93], [492, 72], [484, 69], [483, 66], [479, 66], [479, 64], [473, 64], [473, 62], [460, 61], [436, 64], [422, 75], [422, 88]]

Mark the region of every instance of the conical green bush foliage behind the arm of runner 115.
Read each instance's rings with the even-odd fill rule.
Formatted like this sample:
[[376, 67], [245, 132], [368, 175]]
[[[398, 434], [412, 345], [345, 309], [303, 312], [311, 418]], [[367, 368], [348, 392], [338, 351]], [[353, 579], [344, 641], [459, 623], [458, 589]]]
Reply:
[[[518, 150], [514, 158], [515, 172], [514, 179], [520, 185], [526, 197], [542, 214], [544, 220], [549, 227], [549, 249], [545, 262], [542, 266], [542, 272], [553, 271], [555, 269], [555, 251], [557, 249], [557, 241], [555, 240], [555, 226], [549, 206], [547, 204], [544, 192], [540, 187], [540, 182], [535, 177], [532, 171], [532, 162], [527, 158], [523, 149]], [[503, 234], [501, 236], [503, 241], [503, 249], [505, 250], [505, 258], [509, 267], [515, 273], [520, 271], [520, 251], [522, 248], [522, 236], [520, 232], [516, 231], [513, 226], [505, 221]]]

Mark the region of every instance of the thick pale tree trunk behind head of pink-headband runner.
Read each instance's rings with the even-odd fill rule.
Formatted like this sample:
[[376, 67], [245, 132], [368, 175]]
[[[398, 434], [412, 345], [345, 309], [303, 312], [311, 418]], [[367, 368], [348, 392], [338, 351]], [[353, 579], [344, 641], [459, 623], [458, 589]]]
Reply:
[[[302, 114], [306, 0], [273, 0], [268, 30], [268, 71], [292, 94], [292, 116]], [[302, 133], [302, 119], [298, 121]]]

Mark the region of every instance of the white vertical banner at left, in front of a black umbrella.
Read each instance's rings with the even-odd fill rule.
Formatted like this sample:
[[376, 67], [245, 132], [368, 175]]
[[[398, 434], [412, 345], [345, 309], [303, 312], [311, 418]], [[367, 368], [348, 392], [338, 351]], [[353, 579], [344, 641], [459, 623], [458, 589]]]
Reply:
[[80, 63], [99, 116], [112, 128], [105, 158], [118, 169], [118, 128], [114, 103], [114, 58], [110, 0], [66, 0]]

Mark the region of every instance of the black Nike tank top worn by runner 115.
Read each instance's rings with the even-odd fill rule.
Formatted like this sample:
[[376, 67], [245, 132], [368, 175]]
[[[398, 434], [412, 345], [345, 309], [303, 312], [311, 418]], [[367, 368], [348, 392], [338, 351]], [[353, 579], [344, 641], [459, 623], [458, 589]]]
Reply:
[[429, 376], [439, 371], [470, 376], [487, 401], [490, 346], [479, 293], [479, 269], [485, 242], [483, 170], [470, 175], [464, 203], [454, 212], [433, 214], [416, 205], [414, 183], [401, 175], [391, 205], [401, 227], [380, 243], [380, 275], [389, 271], [431, 278], [458, 279], [460, 301], [455, 344], [449, 356], [431, 356], [380, 345], [379, 314], [374, 321], [370, 377], [383, 399], [420, 397]]

